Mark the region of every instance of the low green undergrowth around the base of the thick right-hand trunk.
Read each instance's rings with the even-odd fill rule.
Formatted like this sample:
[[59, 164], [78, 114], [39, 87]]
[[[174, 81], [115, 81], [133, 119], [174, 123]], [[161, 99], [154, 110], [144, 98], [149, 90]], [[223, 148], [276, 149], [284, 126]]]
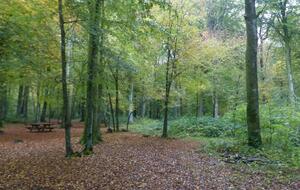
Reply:
[[[160, 136], [162, 121], [136, 120], [131, 131]], [[300, 168], [300, 137], [297, 128], [276, 124], [262, 127], [263, 145], [259, 149], [247, 145], [245, 125], [236, 124], [226, 117], [182, 117], [169, 122], [169, 137], [201, 141], [202, 150], [209, 154], [239, 154], [270, 160], [276, 167]]]

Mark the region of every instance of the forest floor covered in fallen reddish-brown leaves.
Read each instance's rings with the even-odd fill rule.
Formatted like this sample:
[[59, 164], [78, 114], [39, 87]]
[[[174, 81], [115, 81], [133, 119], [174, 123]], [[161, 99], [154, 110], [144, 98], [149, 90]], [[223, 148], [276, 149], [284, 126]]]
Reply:
[[[83, 125], [72, 128], [80, 150]], [[199, 142], [106, 134], [91, 156], [64, 157], [64, 130], [30, 133], [8, 124], [0, 133], [0, 189], [300, 189], [299, 181], [233, 167], [199, 151]]]

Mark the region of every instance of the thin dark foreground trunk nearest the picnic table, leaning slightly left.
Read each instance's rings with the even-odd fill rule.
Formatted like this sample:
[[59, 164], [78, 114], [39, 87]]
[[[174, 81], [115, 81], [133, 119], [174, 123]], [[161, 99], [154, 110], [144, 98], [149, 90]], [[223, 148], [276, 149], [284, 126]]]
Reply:
[[[60, 26], [60, 37], [61, 37], [61, 83], [62, 83], [62, 96], [63, 96], [63, 127], [65, 128], [65, 147], [66, 156], [70, 157], [73, 154], [72, 143], [71, 143], [71, 113], [70, 113], [70, 102], [68, 96], [68, 84], [67, 84], [67, 59], [66, 59], [66, 34], [64, 27], [64, 16], [63, 16], [63, 4], [62, 0], [58, 0], [58, 13], [59, 13], [59, 26]], [[49, 116], [50, 117], [50, 116]]]

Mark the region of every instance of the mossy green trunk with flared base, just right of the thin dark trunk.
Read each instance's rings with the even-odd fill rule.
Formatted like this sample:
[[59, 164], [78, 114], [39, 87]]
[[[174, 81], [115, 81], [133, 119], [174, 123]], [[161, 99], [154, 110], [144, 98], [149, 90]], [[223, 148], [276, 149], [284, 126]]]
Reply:
[[100, 22], [100, 1], [89, 0], [89, 50], [88, 50], [88, 79], [87, 79], [87, 118], [85, 132], [84, 152], [89, 154], [93, 152], [93, 128], [97, 127], [95, 120], [96, 109], [96, 79], [97, 79], [97, 61], [99, 53], [99, 22]]

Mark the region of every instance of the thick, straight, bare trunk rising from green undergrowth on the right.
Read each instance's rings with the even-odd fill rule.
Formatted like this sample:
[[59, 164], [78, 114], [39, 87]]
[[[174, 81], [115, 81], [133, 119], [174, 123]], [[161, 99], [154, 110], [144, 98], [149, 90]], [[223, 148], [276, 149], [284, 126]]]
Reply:
[[248, 144], [253, 147], [259, 147], [262, 144], [258, 103], [256, 18], [255, 0], [245, 0]]

